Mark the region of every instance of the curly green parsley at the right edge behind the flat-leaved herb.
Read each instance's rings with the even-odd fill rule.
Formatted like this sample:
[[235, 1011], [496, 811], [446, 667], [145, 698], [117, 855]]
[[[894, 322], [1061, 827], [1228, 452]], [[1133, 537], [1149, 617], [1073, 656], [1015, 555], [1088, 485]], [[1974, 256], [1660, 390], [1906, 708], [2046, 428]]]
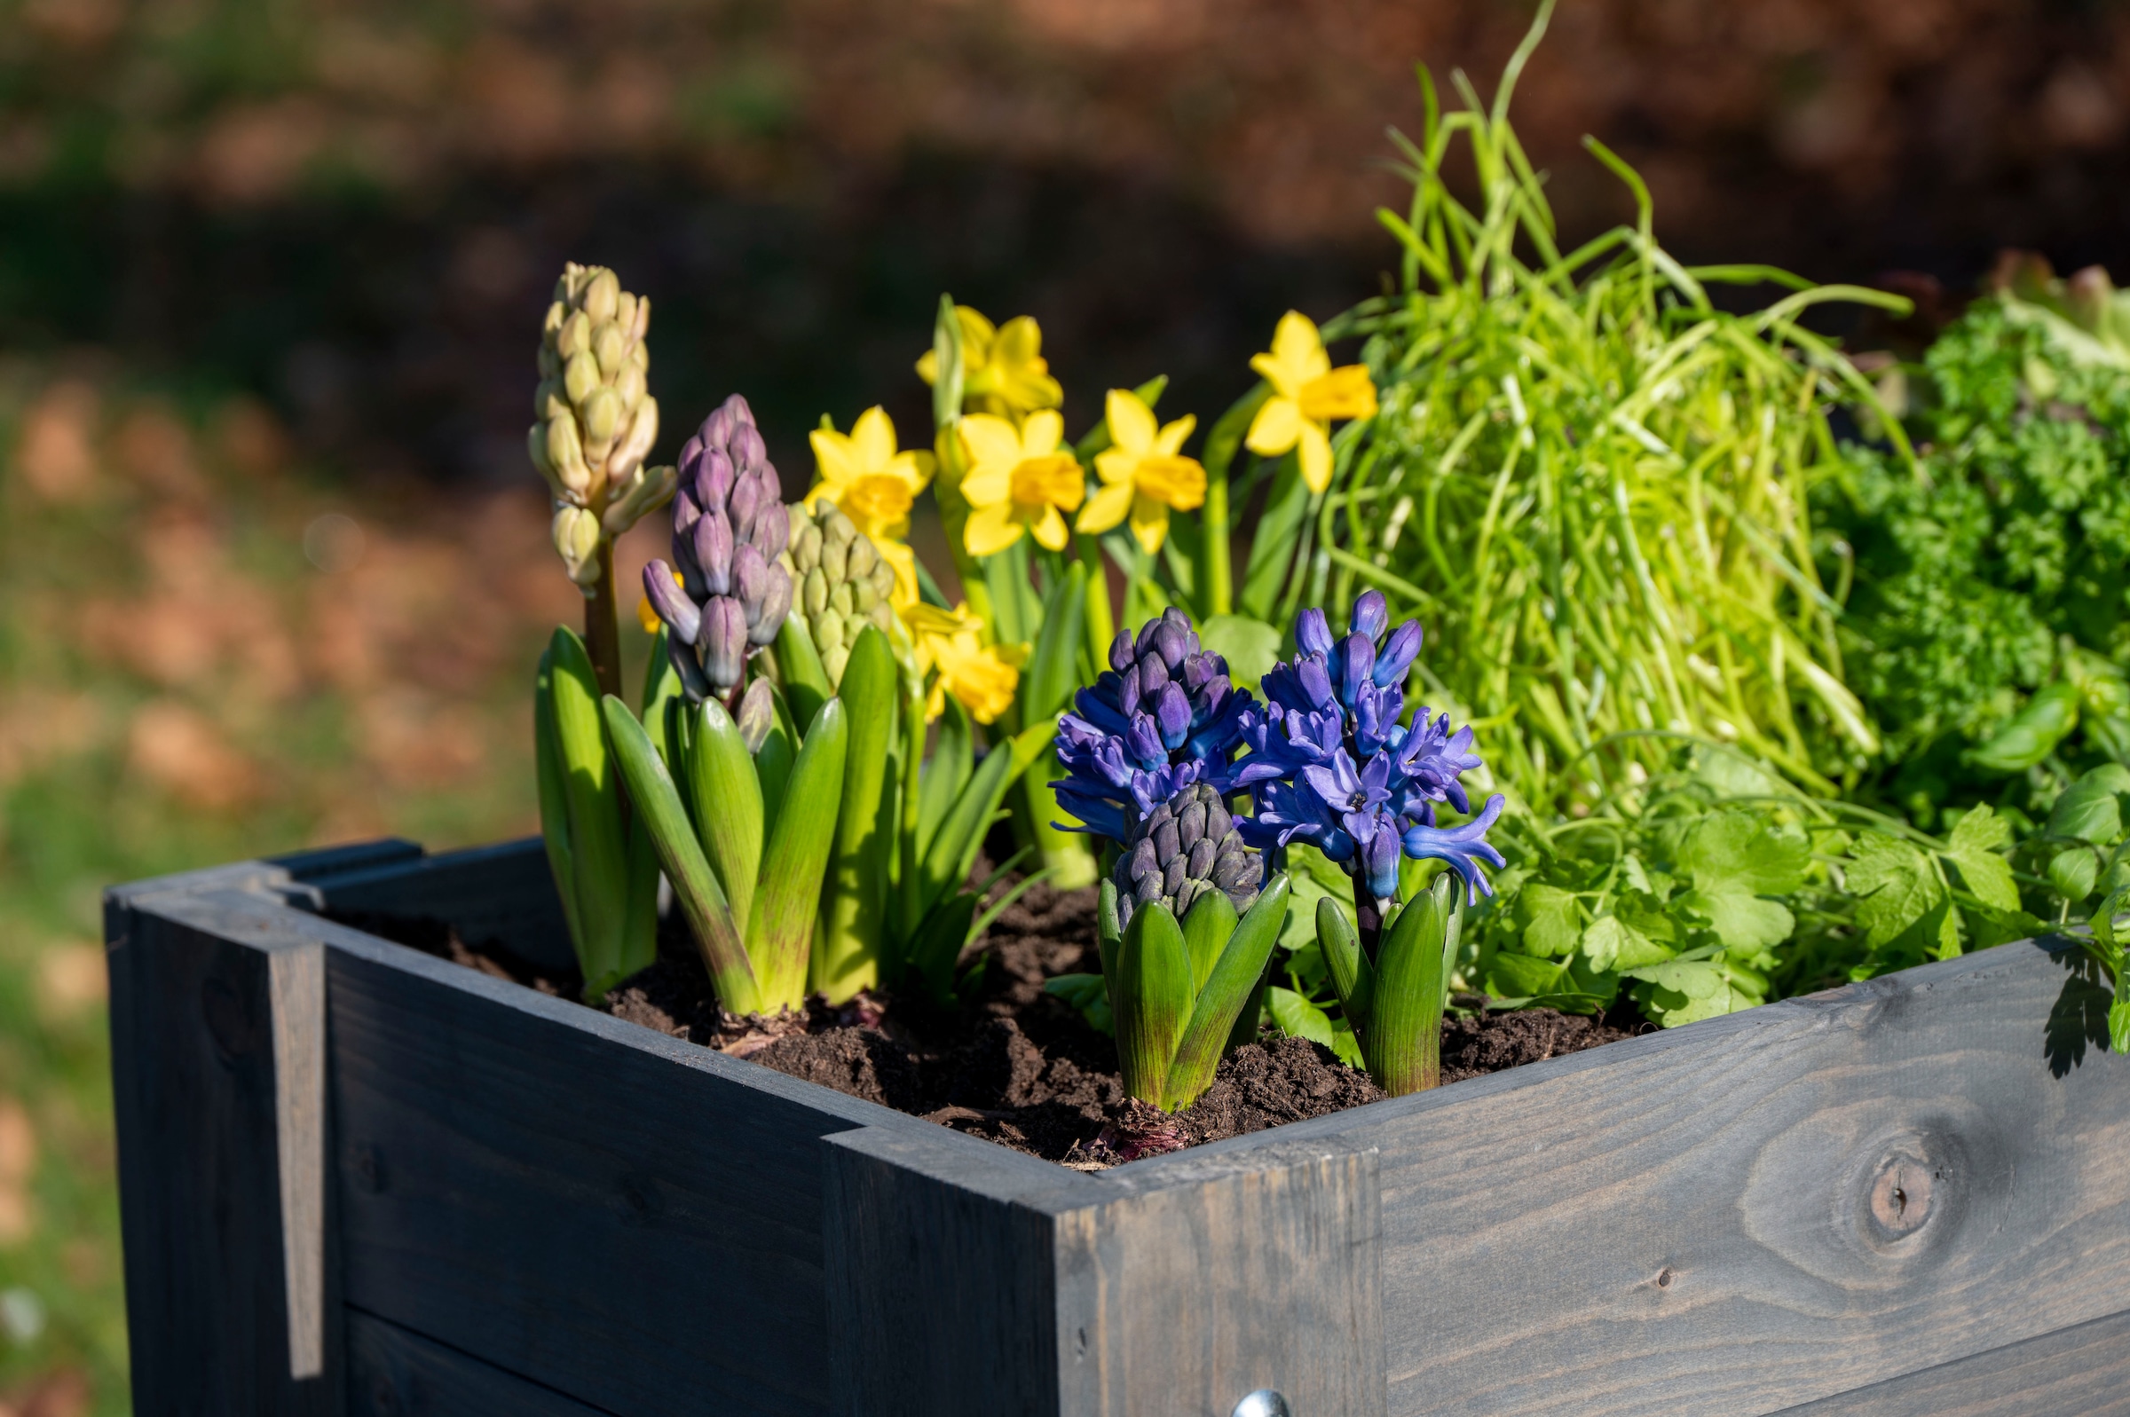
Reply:
[[1919, 825], [2036, 812], [2130, 761], [2130, 379], [1983, 300], [1911, 379], [1921, 467], [1849, 447], [1819, 490], [1819, 563], [1855, 560], [1838, 635], [1885, 733], [1866, 784]]

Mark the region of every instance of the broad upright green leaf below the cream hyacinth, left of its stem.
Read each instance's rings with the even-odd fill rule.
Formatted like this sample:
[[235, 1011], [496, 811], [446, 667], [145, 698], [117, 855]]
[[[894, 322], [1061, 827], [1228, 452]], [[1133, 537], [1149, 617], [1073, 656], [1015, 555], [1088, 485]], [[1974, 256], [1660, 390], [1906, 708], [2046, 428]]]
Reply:
[[569, 844], [577, 867], [577, 963], [584, 978], [613, 976], [622, 963], [628, 914], [628, 840], [607, 735], [599, 722], [599, 675], [584, 641], [556, 629], [550, 650], [550, 707], [569, 805]]

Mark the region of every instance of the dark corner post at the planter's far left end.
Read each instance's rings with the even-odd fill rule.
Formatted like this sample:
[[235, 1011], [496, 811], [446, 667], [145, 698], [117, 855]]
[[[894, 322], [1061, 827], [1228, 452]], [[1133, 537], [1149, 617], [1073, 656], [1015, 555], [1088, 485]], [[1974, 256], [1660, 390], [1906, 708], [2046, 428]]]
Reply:
[[[215, 891], [113, 891], [113, 1102], [134, 1411], [339, 1411], [317, 1106], [315, 950]], [[170, 882], [158, 882], [170, 884]]]

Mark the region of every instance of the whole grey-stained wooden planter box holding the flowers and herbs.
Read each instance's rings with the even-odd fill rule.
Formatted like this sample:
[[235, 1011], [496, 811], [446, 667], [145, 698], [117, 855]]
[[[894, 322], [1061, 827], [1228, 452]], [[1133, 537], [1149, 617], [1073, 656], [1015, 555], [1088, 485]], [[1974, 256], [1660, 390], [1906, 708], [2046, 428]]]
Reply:
[[537, 842], [111, 893], [143, 1417], [2130, 1411], [2041, 944], [1080, 1174], [328, 908], [567, 961]]

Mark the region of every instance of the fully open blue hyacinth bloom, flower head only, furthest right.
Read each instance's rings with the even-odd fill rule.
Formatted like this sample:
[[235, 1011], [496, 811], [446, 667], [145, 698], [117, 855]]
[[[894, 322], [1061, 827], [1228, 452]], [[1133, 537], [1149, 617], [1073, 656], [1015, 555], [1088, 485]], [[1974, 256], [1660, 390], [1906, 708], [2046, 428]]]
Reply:
[[1376, 901], [1397, 895], [1402, 854], [1448, 863], [1468, 899], [1493, 895], [1480, 863], [1504, 865], [1487, 842], [1502, 797], [1463, 827], [1436, 822], [1436, 803], [1472, 810], [1459, 776], [1480, 759], [1472, 729], [1451, 733], [1448, 714], [1431, 720], [1423, 705], [1410, 729], [1399, 722], [1421, 624], [1389, 620], [1380, 590], [1361, 595], [1342, 639], [1321, 609], [1301, 612], [1295, 658], [1265, 675], [1265, 703], [1244, 712], [1250, 754], [1233, 784], [1255, 793], [1257, 816], [1240, 829], [1263, 848], [1316, 846], [1355, 878], [1357, 901], [1361, 889]]

